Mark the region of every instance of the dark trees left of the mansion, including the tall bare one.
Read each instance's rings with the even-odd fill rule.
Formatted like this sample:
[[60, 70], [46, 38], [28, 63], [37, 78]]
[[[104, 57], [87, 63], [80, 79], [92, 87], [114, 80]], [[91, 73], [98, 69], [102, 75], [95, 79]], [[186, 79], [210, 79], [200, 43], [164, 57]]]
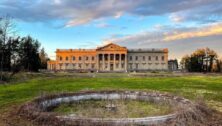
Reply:
[[4, 72], [13, 74], [35, 71], [47, 67], [47, 54], [40, 48], [40, 42], [31, 36], [16, 35], [15, 25], [8, 16], [0, 18], [0, 70], [1, 80]]

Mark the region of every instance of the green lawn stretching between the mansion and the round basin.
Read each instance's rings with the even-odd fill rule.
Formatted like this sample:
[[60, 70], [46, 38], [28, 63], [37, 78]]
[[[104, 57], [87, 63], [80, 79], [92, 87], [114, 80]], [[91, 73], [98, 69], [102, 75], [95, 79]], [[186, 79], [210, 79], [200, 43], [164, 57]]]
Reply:
[[222, 111], [222, 76], [135, 77], [128, 74], [39, 74], [0, 85], [0, 113], [41, 94], [80, 90], [154, 90], [191, 100], [203, 98]]

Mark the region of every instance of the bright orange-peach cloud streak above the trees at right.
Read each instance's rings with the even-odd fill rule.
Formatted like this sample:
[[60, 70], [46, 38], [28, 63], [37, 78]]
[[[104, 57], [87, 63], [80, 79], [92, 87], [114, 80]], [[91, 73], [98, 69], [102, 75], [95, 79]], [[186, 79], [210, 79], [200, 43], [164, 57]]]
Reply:
[[220, 35], [220, 34], [222, 34], [222, 24], [216, 24], [216, 25], [206, 26], [204, 28], [200, 28], [195, 31], [180, 32], [180, 33], [174, 33], [171, 35], [166, 35], [163, 40], [173, 41], [173, 40], [179, 40], [179, 39], [204, 37], [204, 36], [212, 36], [212, 35]]

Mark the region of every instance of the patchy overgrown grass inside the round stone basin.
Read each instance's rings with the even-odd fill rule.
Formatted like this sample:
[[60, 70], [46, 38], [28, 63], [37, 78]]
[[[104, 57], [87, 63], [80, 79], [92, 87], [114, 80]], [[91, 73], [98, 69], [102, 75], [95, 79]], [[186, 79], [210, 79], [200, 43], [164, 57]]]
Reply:
[[[114, 108], [107, 108], [114, 105]], [[168, 104], [156, 104], [136, 100], [86, 100], [70, 104], [61, 104], [53, 110], [62, 115], [74, 114], [86, 118], [141, 118], [166, 115], [173, 112]]]

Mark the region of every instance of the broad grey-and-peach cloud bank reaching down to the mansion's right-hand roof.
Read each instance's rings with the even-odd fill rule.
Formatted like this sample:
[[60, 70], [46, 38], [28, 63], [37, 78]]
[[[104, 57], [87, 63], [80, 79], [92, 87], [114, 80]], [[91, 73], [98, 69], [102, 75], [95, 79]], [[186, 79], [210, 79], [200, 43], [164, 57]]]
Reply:
[[114, 42], [128, 48], [169, 48], [170, 58], [181, 58], [197, 48], [205, 47], [222, 54], [222, 23], [209, 23], [200, 27], [154, 27], [151, 31], [137, 34], [110, 36], [103, 43]]

